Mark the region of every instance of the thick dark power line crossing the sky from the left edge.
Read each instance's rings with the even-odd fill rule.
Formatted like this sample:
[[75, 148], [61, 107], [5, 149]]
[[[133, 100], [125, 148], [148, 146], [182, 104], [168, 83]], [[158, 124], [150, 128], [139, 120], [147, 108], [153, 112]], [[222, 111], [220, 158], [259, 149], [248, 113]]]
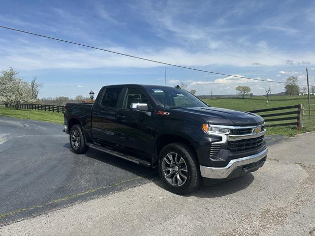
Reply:
[[136, 58], [136, 59], [156, 62], [156, 63], [159, 63], [159, 64], [174, 66], [174, 67], [178, 67], [178, 68], [184, 68], [184, 69], [200, 71], [200, 72], [205, 72], [205, 73], [211, 73], [211, 74], [216, 74], [216, 75], [231, 76], [231, 77], [235, 77], [235, 78], [242, 78], [242, 79], [248, 79], [248, 80], [285, 84], [285, 82], [282, 82], [282, 81], [262, 80], [262, 79], [255, 79], [255, 78], [245, 77], [245, 76], [229, 75], [229, 74], [225, 74], [225, 73], [219, 73], [219, 72], [214, 72], [214, 71], [201, 70], [201, 69], [197, 69], [197, 68], [191, 68], [191, 67], [187, 67], [187, 66], [171, 64], [171, 63], [162, 62], [162, 61], [153, 60], [153, 59], [141, 58], [141, 57], [137, 57], [137, 56], [128, 55], [128, 54], [125, 54], [125, 53], [115, 52], [115, 51], [111, 51], [111, 50], [107, 50], [107, 49], [103, 49], [103, 48], [89, 46], [89, 45], [86, 45], [86, 44], [76, 43], [76, 42], [72, 42], [72, 41], [68, 41], [68, 40], [63, 40], [63, 39], [59, 39], [59, 38], [55, 38], [55, 37], [51, 37], [51, 36], [46, 36], [46, 35], [33, 33], [33, 32], [29, 32], [29, 31], [24, 31], [24, 30], [21, 30], [21, 29], [14, 29], [14, 28], [1, 26], [1, 25], [0, 25], [0, 28], [14, 30], [14, 31], [17, 31], [17, 32], [22, 32], [22, 33], [27, 33], [27, 34], [43, 37], [43, 38], [49, 38], [49, 39], [57, 40], [57, 41], [60, 41], [60, 42], [70, 43], [70, 44], [74, 44], [74, 45], [78, 45], [78, 46], [82, 46], [82, 47], [87, 47], [87, 48], [93, 48], [93, 49], [96, 49], [96, 50], [101, 50], [101, 51], [105, 51], [105, 52], [109, 52], [109, 53], [113, 53], [113, 54], [118, 54], [118, 55], [130, 57], [130, 58]]

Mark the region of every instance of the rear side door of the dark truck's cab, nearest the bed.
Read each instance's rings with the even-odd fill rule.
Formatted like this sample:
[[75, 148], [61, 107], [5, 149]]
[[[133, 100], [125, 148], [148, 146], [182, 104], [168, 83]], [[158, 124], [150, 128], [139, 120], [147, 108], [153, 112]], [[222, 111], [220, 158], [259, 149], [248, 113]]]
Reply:
[[96, 144], [115, 148], [117, 107], [123, 103], [123, 87], [107, 87], [92, 111], [92, 136]]

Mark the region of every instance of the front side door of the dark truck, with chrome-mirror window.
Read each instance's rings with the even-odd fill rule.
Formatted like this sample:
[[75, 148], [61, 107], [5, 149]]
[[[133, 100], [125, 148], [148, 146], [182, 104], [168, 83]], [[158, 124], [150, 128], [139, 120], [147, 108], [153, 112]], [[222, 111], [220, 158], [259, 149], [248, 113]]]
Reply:
[[[130, 110], [131, 103], [147, 103], [151, 115]], [[138, 154], [152, 152], [152, 104], [140, 87], [127, 87], [123, 106], [117, 112], [118, 148]]]

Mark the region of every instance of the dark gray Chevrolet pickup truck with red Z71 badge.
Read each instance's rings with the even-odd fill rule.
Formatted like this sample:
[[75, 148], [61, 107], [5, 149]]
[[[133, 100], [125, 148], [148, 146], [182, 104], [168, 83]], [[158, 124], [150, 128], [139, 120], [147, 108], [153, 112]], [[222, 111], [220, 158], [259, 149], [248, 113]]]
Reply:
[[105, 86], [94, 104], [66, 104], [64, 131], [75, 153], [157, 167], [178, 194], [256, 171], [267, 157], [263, 118], [209, 107], [179, 87]]

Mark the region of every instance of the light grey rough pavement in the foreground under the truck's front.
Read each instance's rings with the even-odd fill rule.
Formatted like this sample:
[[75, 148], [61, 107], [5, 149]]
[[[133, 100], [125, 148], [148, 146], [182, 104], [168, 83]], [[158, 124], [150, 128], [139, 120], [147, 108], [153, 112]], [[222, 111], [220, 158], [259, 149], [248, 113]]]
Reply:
[[302, 134], [269, 147], [259, 171], [190, 196], [150, 181], [3, 226], [0, 235], [315, 235], [314, 151], [315, 133]]

